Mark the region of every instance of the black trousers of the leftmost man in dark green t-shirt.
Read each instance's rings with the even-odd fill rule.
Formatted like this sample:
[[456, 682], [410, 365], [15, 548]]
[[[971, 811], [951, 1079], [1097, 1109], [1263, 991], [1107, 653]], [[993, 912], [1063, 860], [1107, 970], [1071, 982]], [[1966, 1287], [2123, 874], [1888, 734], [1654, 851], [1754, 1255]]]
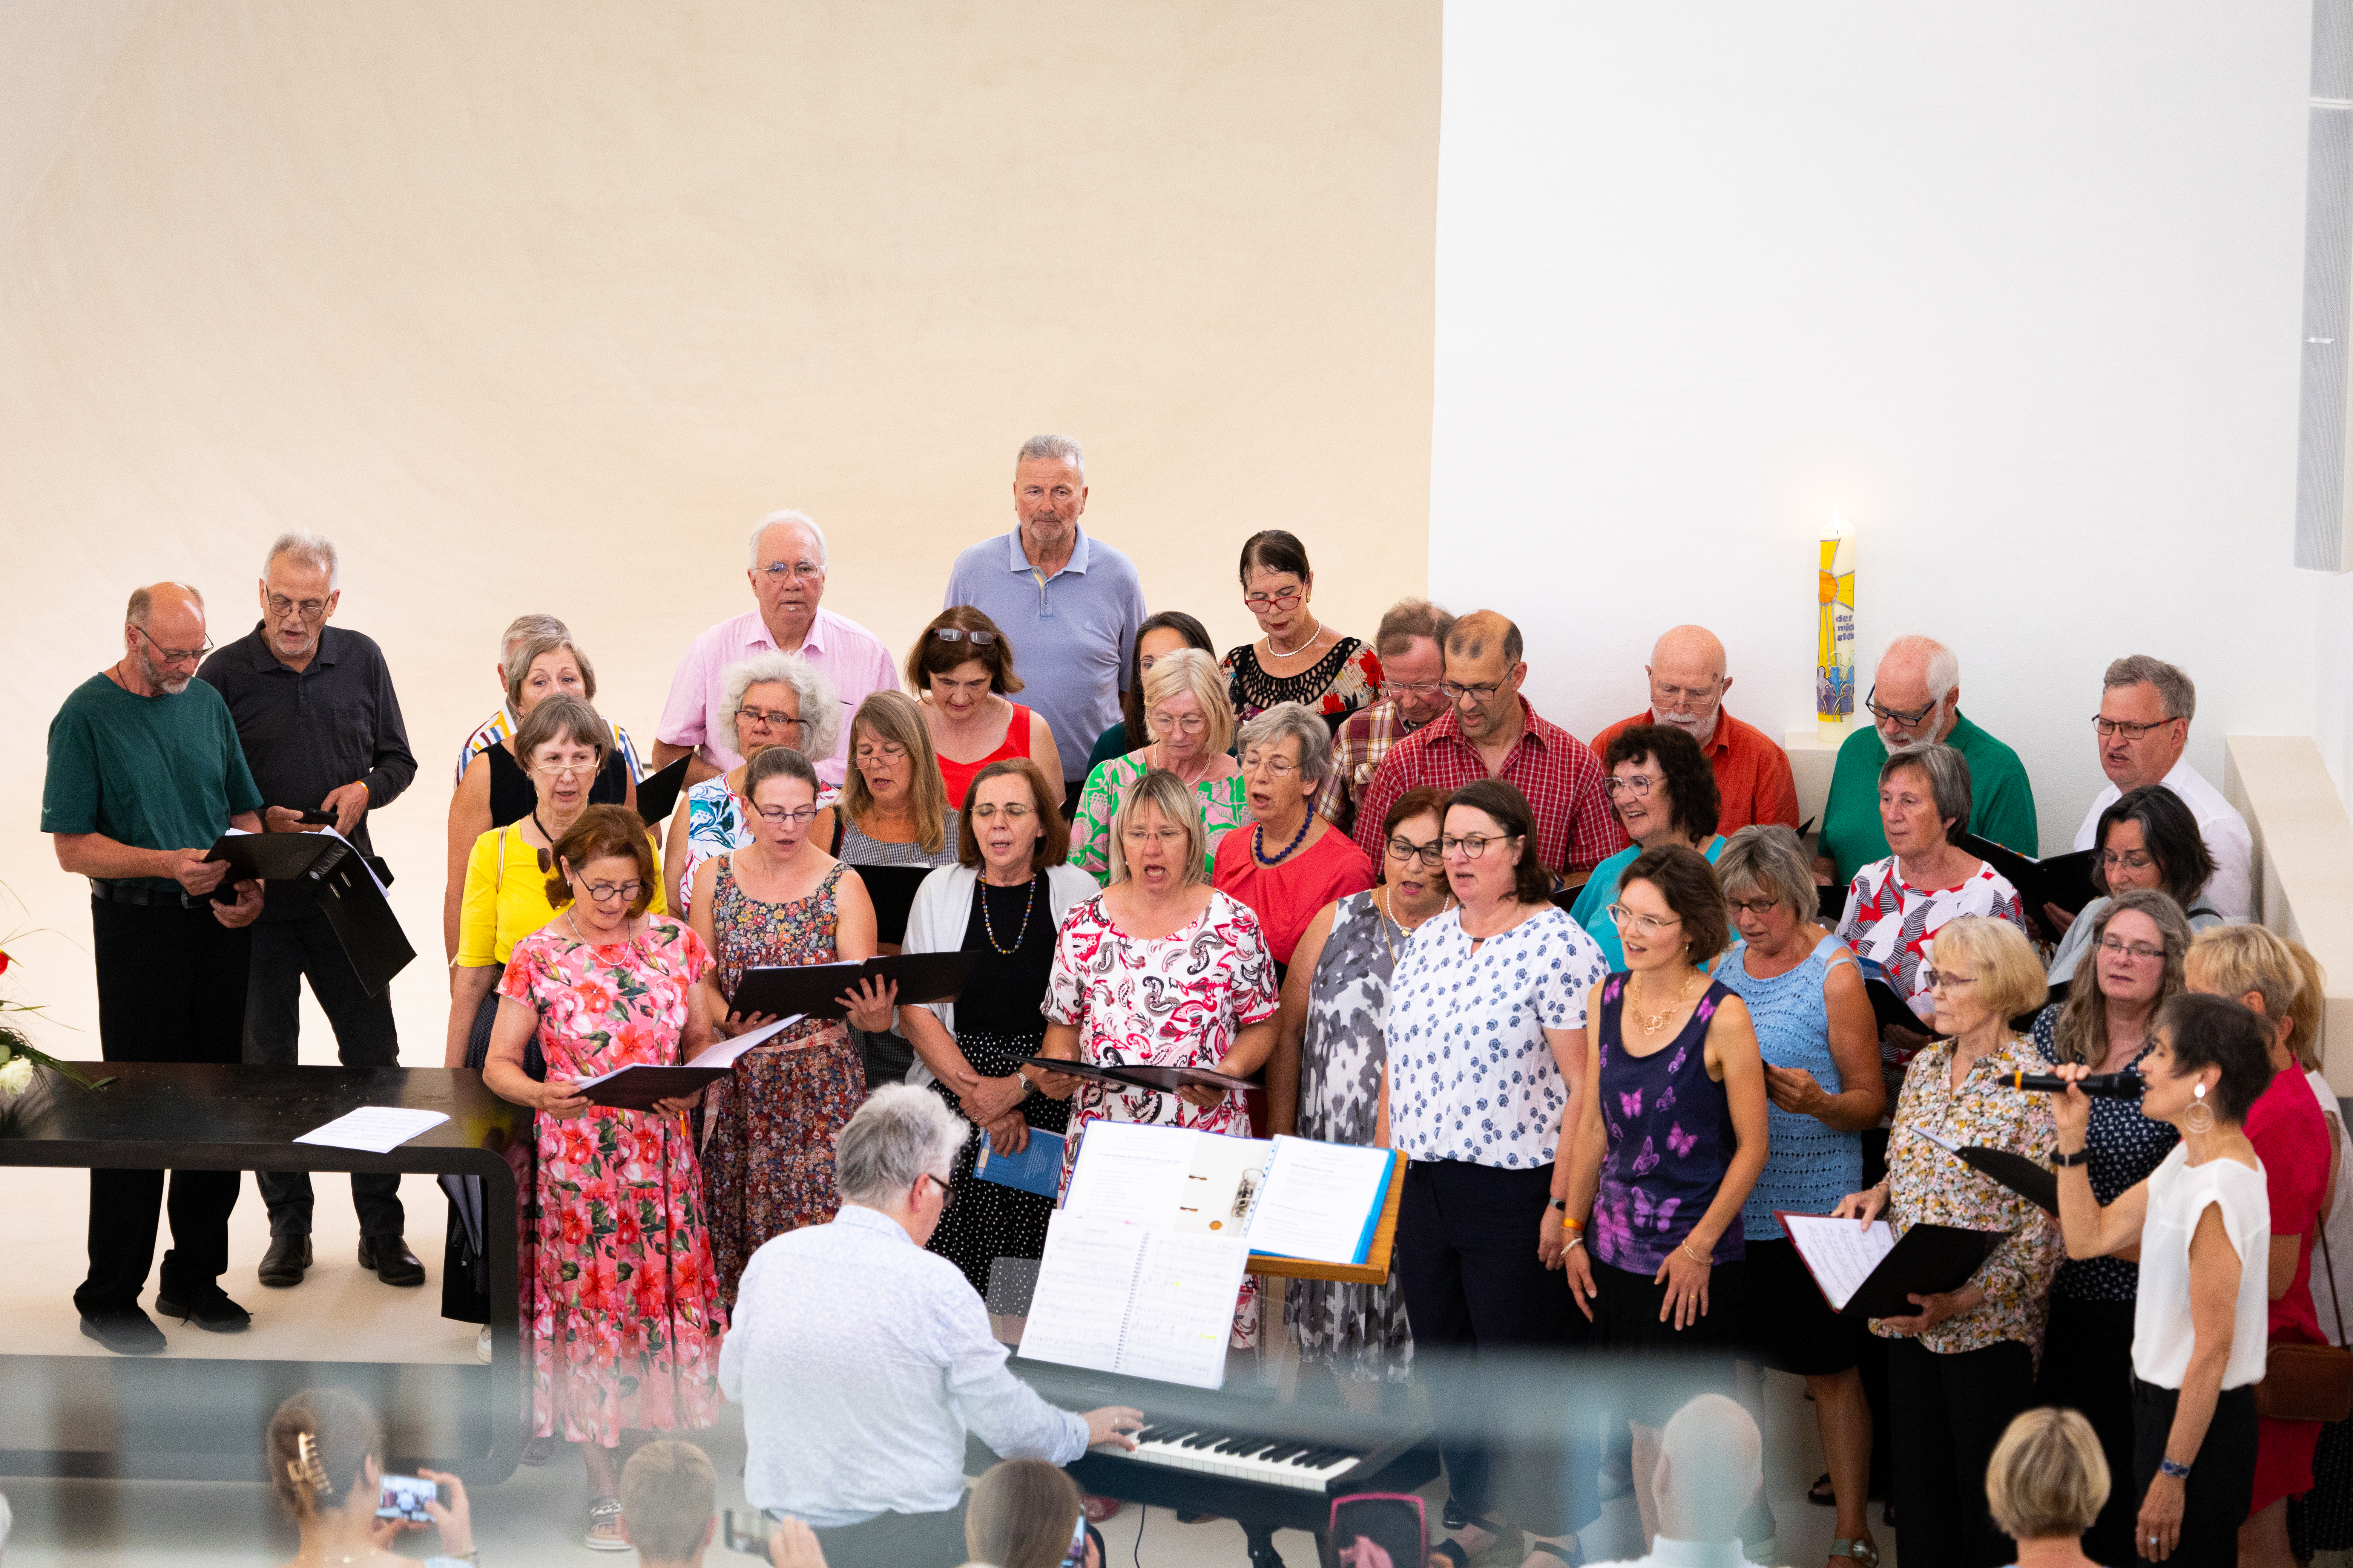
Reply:
[[[99, 969], [99, 1053], [111, 1063], [235, 1063], [245, 1053], [252, 929], [212, 905], [89, 900]], [[172, 1248], [162, 1295], [216, 1288], [228, 1269], [235, 1171], [172, 1171]], [[139, 1305], [165, 1211], [162, 1171], [89, 1173], [89, 1276], [73, 1293], [87, 1316]]]

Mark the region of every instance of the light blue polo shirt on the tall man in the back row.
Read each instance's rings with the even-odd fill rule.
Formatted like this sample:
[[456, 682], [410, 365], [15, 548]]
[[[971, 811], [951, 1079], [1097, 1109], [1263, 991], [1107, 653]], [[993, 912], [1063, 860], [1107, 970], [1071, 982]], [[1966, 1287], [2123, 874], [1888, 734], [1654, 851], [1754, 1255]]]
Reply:
[[979, 609], [1012, 642], [1021, 701], [1054, 731], [1064, 783], [1085, 778], [1078, 743], [1118, 724], [1120, 686], [1144, 625], [1136, 564], [1080, 527], [1068, 564], [1040, 578], [1021, 529], [1012, 529], [955, 557], [941, 607], [958, 604]]

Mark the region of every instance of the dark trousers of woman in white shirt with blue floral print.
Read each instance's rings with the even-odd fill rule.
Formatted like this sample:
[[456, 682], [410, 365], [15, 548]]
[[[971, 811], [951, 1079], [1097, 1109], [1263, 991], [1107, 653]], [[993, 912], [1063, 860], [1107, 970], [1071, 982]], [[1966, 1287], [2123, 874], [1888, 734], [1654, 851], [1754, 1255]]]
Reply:
[[[1567, 1276], [1537, 1262], [1551, 1187], [1551, 1166], [1417, 1161], [1405, 1168], [1395, 1258], [1414, 1326], [1414, 1375], [1442, 1380], [1431, 1394], [1454, 1502], [1468, 1514], [1497, 1509], [1537, 1535], [1567, 1535], [1602, 1512], [1600, 1403], [1562, 1410], [1558, 1446], [1506, 1448], [1480, 1436], [1480, 1413], [1511, 1389], [1487, 1387], [1475, 1363], [1492, 1352], [1555, 1352], [1567, 1361], [1586, 1342]], [[1508, 1378], [1508, 1366], [1499, 1375]]]

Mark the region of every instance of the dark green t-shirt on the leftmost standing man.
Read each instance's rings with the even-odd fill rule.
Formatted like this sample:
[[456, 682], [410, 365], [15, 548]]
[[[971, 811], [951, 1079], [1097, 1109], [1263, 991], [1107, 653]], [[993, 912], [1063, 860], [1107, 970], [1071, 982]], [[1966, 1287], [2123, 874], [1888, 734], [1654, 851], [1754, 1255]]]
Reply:
[[[245, 811], [261, 811], [261, 788], [228, 703], [200, 679], [179, 696], [134, 696], [92, 675], [49, 719], [42, 832], [104, 832], [132, 849], [207, 849]], [[92, 882], [179, 891], [169, 877]]]

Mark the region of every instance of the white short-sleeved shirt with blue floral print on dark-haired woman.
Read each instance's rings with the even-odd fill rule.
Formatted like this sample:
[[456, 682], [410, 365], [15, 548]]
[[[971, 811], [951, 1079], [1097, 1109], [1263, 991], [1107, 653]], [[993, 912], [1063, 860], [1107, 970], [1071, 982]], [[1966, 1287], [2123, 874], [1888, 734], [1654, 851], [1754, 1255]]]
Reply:
[[1388, 985], [1395, 1147], [1508, 1171], [1553, 1164], [1569, 1088], [1544, 1032], [1586, 1027], [1586, 992], [1607, 973], [1565, 910], [1539, 910], [1478, 952], [1461, 910], [1424, 922]]

